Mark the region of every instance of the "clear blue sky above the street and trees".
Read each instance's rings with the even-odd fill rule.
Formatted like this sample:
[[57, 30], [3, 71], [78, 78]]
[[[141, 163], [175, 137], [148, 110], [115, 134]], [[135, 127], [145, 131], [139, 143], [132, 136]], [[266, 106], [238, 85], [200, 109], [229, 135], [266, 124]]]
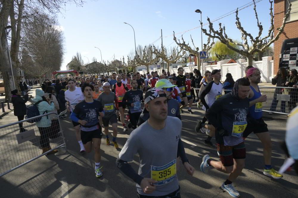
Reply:
[[[256, 0], [258, 1], [258, 0]], [[123, 22], [134, 27], [136, 34], [136, 45], [148, 45], [157, 40], [163, 33], [164, 46], [175, 46], [173, 36], [175, 33], [183, 32], [199, 26], [200, 14], [195, 13], [196, 9], [202, 11], [203, 23], [207, 22], [207, 16], [213, 20], [221, 15], [235, 10], [251, 0], [209, 0], [209, 1], [177, 1], [177, 0], [151, 0], [151, 1], [87, 1], [83, 7], [67, 5], [63, 15], [59, 15], [58, 22], [65, 35], [65, 54], [61, 70], [66, 69], [76, 52], [81, 52], [85, 63], [92, 57], [100, 61], [101, 49], [103, 60], [114, 58], [120, 59], [122, 55], [130, 53], [134, 49], [133, 29]], [[269, 16], [270, 4], [267, 0], [257, 3], [259, 20], [263, 24], [263, 35], [268, 31], [270, 25]], [[239, 11], [241, 24], [247, 32], [255, 37], [258, 33], [257, 22], [254, 16], [253, 6]], [[241, 35], [235, 24], [235, 13], [214, 22], [218, 28], [218, 22], [226, 26], [226, 32], [232, 39], [241, 40]], [[204, 26], [204, 28], [208, 28]], [[178, 38], [181, 34], [176, 35]], [[201, 49], [201, 30], [193, 29], [183, 34], [184, 40], [190, 42], [190, 35], [196, 46]], [[167, 37], [168, 36], [168, 37]], [[207, 36], [203, 35], [203, 43]], [[154, 43], [161, 46], [161, 40]], [[192, 46], [192, 44], [191, 44]], [[86, 56], [86, 57], [84, 57]]]

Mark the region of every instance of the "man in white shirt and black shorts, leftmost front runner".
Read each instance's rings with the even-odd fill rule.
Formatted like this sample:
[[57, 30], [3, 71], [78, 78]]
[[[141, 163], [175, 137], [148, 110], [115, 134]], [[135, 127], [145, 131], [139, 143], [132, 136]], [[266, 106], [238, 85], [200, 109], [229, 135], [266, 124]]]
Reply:
[[[84, 95], [81, 91], [81, 88], [75, 86], [75, 80], [74, 79], [68, 79], [67, 80], [68, 90], [65, 91], [65, 100], [66, 100], [66, 109], [72, 113], [72, 111], [75, 108], [75, 105], [79, 103], [80, 101], [84, 100]], [[75, 128], [76, 132], [76, 138], [78, 143], [80, 144], [80, 152], [85, 152], [84, 145], [81, 140], [81, 133], [80, 133], [80, 123], [75, 122], [72, 120], [72, 124]]]

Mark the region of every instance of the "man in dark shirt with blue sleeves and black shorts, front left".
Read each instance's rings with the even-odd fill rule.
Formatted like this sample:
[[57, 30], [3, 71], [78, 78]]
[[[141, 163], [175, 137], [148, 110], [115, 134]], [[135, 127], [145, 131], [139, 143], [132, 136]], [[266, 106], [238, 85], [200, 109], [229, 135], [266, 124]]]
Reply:
[[102, 166], [100, 166], [100, 143], [101, 143], [101, 127], [98, 124], [99, 116], [103, 116], [102, 104], [92, 98], [93, 86], [84, 84], [82, 92], [85, 100], [79, 102], [72, 111], [71, 119], [74, 122], [81, 124], [82, 142], [86, 148], [86, 152], [91, 152], [92, 147], [95, 151], [95, 176], [101, 177]]

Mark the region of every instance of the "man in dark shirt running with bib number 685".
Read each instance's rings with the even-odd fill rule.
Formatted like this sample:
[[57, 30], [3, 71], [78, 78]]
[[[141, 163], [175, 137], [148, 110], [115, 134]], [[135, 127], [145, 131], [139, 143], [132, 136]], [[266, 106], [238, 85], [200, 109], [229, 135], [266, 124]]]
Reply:
[[131, 80], [131, 89], [126, 91], [122, 104], [128, 106], [128, 128], [136, 129], [139, 117], [142, 113], [141, 102], [143, 102], [143, 91], [137, 89], [137, 80]]

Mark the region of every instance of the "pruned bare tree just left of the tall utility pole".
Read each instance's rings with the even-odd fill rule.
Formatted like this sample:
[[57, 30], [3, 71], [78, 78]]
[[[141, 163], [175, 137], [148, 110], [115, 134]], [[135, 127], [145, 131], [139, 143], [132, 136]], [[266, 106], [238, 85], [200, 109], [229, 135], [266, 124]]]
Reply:
[[145, 65], [147, 71], [149, 71], [149, 65], [156, 63], [156, 61], [159, 60], [159, 57], [153, 57], [152, 47], [145, 46], [142, 51], [142, 57], [138, 53], [136, 53], [136, 56], [134, 57], [134, 59], [137, 64]]

